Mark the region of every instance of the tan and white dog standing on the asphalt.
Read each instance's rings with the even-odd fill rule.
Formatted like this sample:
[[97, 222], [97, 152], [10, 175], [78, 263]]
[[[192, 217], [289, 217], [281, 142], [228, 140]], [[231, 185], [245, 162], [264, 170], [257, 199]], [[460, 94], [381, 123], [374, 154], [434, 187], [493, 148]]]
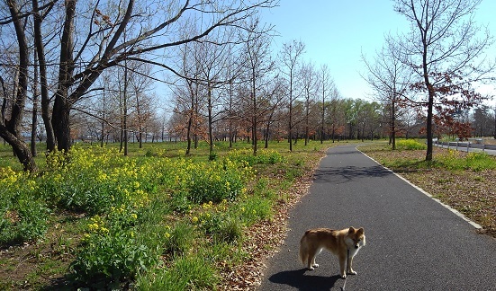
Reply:
[[[303, 234], [302, 240], [300, 240], [300, 260], [303, 265], [307, 265], [307, 269], [317, 268], [319, 265], [315, 263], [315, 257], [320, 251], [327, 249], [338, 256], [341, 278], [347, 278], [347, 274], [356, 275], [356, 271], [351, 267], [353, 257], [364, 245], [365, 231], [363, 227], [358, 229], [349, 227], [342, 230], [310, 229]], [[345, 271], [346, 260], [348, 260], [347, 271]]]

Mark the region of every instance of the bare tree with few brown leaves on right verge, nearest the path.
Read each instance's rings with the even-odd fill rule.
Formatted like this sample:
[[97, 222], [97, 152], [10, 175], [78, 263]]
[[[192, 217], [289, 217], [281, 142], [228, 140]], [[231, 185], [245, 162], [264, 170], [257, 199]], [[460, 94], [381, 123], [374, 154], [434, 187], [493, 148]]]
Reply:
[[[427, 108], [426, 160], [432, 160], [434, 108], [440, 95], [467, 99], [473, 103], [467, 84], [481, 80], [491, 68], [481, 59], [491, 44], [487, 30], [474, 22], [481, 0], [395, 0], [394, 9], [411, 23], [410, 32], [388, 40], [401, 61], [415, 72], [417, 89], [427, 93], [427, 100], [417, 101]], [[470, 96], [464, 96], [470, 92]], [[464, 106], [452, 102], [455, 106]]]

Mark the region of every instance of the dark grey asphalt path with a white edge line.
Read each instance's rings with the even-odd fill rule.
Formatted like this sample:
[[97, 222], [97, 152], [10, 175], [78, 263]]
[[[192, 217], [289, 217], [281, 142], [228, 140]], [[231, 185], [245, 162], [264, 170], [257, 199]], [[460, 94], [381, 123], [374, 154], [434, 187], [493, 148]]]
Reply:
[[[428, 191], [428, 190], [427, 190]], [[365, 227], [357, 275], [338, 276], [328, 251], [319, 268], [298, 260], [305, 230]], [[496, 290], [496, 240], [401, 180], [355, 145], [330, 148], [310, 193], [290, 212], [290, 231], [257, 290]]]

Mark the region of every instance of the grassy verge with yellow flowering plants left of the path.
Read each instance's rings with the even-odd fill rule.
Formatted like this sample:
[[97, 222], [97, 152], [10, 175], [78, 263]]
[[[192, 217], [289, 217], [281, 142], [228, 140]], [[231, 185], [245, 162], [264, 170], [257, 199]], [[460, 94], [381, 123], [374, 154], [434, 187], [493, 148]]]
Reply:
[[[76, 145], [19, 172], [0, 148], [0, 289], [230, 289], [281, 236], [330, 144]], [[284, 232], [278, 234], [284, 235]], [[242, 278], [242, 282], [239, 282]], [[250, 281], [251, 280], [251, 281]]]

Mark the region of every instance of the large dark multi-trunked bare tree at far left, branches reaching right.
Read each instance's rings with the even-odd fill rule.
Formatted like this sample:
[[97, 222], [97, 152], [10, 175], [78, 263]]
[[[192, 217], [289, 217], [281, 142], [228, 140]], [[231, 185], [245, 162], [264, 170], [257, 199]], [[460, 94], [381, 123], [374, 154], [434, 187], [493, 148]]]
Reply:
[[[49, 74], [44, 75], [41, 72], [41, 78], [47, 81], [47, 84], [41, 82], [41, 109], [48, 108], [44, 105], [47, 105], [46, 102], [50, 100], [43, 99], [43, 96], [48, 96], [48, 89], [54, 88], [54, 92], [51, 93], [53, 107], [50, 124], [59, 150], [68, 150], [72, 143], [70, 111], [78, 101], [93, 90], [95, 81], [104, 70], [122, 65], [124, 60], [135, 60], [174, 71], [167, 65], [170, 63], [167, 55], [162, 59], [156, 57], [164, 49], [178, 47], [192, 41], [201, 41], [212, 31], [217, 31], [222, 27], [242, 28], [242, 22], [257, 13], [258, 9], [274, 5], [273, 0], [256, 0], [255, 2], [184, 0], [170, 1], [166, 4], [160, 1], [151, 4], [135, 0], [127, 3], [67, 0], [63, 5], [58, 5], [57, 0], [48, 4], [32, 0], [31, 7], [27, 3], [16, 0], [5, 2], [9, 7], [9, 13], [1, 17], [1, 24], [14, 26], [20, 61], [19, 66], [16, 66], [19, 71], [18, 90], [15, 94], [16, 105], [9, 122], [0, 124], [0, 136], [13, 146], [24, 168], [31, 171], [36, 168], [34, 160], [28, 153], [29, 148], [16, 134], [18, 130], [14, 128], [19, 124], [17, 120], [22, 119], [23, 106], [26, 101], [29, 46], [23, 31], [28, 23], [26, 20], [32, 15], [39, 17], [37, 23], [41, 28], [41, 34], [36, 36], [39, 56], [46, 55], [46, 50], [40, 49], [41, 45], [50, 44], [50, 51], [58, 52], [57, 68], [53, 67], [48, 60], [39, 57], [41, 70], [42, 67], [48, 69], [52, 66], [52, 74], [56, 75], [51, 80], [53, 83], [48, 84]], [[21, 5], [23, 5], [23, 11], [19, 9]], [[44, 20], [47, 18], [56, 20], [54, 21], [56, 26], [44, 25]], [[185, 20], [192, 18], [203, 19], [202, 26], [197, 33], [176, 33], [182, 28]], [[60, 29], [54, 30], [54, 28]], [[53, 38], [47, 40], [39, 38], [49, 35], [48, 31], [52, 31], [50, 33]], [[61, 33], [54, 35], [53, 31], [61, 31]], [[217, 44], [222, 45], [226, 42], [229, 40]], [[45, 89], [47, 89], [47, 94], [43, 93]], [[46, 110], [44, 112], [46, 113]]]

